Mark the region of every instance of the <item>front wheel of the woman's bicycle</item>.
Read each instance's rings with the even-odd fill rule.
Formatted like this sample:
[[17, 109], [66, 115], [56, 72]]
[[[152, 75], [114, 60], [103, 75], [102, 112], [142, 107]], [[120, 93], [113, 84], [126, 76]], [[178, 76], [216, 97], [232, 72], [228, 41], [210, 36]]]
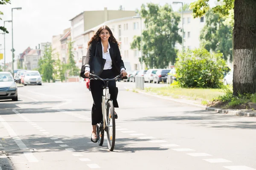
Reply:
[[110, 151], [114, 150], [115, 141], [116, 141], [116, 122], [115, 122], [115, 111], [113, 102], [108, 101], [107, 105], [107, 140], [108, 140], [108, 149]]

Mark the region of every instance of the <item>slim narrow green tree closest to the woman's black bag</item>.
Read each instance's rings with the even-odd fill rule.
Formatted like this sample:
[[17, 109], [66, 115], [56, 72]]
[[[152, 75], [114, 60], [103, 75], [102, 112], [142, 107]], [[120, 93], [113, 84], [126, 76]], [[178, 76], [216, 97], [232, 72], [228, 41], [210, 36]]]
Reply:
[[74, 54], [73, 54], [73, 42], [68, 42], [68, 64], [67, 64], [67, 69], [69, 71], [70, 76], [78, 76], [79, 75], [79, 68], [76, 66], [76, 62], [74, 59]]

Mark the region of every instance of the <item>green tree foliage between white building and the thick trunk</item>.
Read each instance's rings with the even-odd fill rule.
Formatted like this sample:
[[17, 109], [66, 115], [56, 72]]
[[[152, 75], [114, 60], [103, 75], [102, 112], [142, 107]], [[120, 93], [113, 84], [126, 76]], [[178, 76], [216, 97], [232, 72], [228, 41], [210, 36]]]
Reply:
[[223, 53], [225, 60], [230, 56], [232, 62], [232, 27], [224, 25], [226, 18], [219, 18], [212, 9], [205, 16], [206, 24], [200, 33], [201, 46], [208, 51]]

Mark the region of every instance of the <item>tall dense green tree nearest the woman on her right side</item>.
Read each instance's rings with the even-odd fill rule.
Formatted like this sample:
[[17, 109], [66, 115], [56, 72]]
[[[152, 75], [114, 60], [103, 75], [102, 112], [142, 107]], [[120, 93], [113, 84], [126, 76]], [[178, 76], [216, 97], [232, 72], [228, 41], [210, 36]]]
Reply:
[[[141, 6], [140, 15], [145, 19], [143, 30], [143, 61], [148, 68], [166, 68], [175, 62], [175, 43], [181, 42], [178, 23], [180, 16], [168, 4], [159, 6], [147, 3]], [[140, 36], [135, 36], [131, 49], [140, 49]]]

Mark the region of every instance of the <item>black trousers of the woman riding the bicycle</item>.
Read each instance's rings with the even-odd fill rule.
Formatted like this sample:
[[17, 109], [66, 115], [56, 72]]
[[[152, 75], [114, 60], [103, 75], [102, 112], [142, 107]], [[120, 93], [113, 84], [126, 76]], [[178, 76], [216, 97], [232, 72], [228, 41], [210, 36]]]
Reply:
[[[112, 69], [103, 70], [102, 74], [99, 76], [103, 79], [112, 79], [115, 77]], [[92, 107], [92, 125], [102, 122], [102, 85], [104, 82], [102, 80], [90, 80], [90, 89], [93, 96], [93, 107]], [[109, 81], [108, 88], [110, 93], [110, 99], [113, 101], [114, 108], [118, 108], [117, 94], [118, 89], [116, 88], [116, 81]]]

